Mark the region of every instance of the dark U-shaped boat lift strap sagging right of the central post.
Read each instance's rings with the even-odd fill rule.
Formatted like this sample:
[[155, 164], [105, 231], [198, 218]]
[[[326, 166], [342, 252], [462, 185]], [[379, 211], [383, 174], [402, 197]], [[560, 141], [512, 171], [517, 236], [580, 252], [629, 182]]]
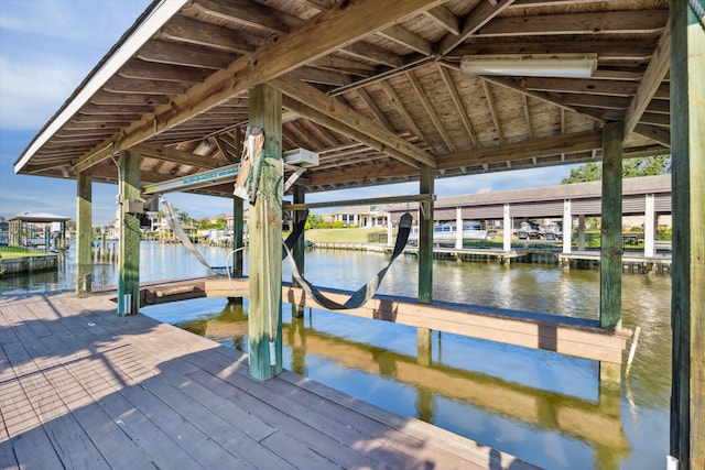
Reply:
[[404, 247], [409, 241], [409, 233], [411, 232], [411, 214], [406, 212], [401, 216], [401, 221], [399, 222], [399, 231], [397, 232], [397, 241], [394, 243], [394, 250], [392, 251], [392, 256], [389, 260], [389, 263], [387, 263], [387, 265], [382, 270], [380, 270], [375, 276], [372, 276], [372, 278], [370, 278], [367, 284], [357, 289], [357, 292], [355, 292], [350, 296], [350, 298], [345, 302], [345, 304], [338, 304], [337, 302], [329, 299], [328, 297], [323, 295], [316, 287], [314, 287], [306, 278], [304, 278], [304, 276], [302, 276], [299, 272], [296, 262], [291, 254], [290, 247], [284, 243], [284, 250], [286, 250], [286, 254], [289, 255], [289, 264], [291, 265], [292, 276], [294, 277], [294, 280], [296, 280], [306, 295], [311, 296], [314, 300], [316, 300], [316, 303], [318, 303], [318, 305], [328, 310], [349, 310], [352, 308], [359, 308], [365, 305], [367, 300], [372, 298], [375, 293], [377, 293], [379, 285], [384, 278], [384, 274], [387, 274], [387, 271], [392, 265], [394, 260], [397, 260], [397, 258], [404, 250]]

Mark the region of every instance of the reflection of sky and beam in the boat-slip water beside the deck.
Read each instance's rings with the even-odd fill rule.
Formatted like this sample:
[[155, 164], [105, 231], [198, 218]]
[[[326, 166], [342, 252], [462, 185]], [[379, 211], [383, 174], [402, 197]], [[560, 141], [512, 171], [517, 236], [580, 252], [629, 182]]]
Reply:
[[[173, 306], [147, 314], [247, 352], [247, 306], [217, 304], [198, 315], [185, 308], [184, 320]], [[296, 373], [545, 468], [649, 468], [626, 464], [637, 452], [622, 424], [620, 391], [600, 387], [593, 361], [434, 334], [429, 363], [409, 346], [415, 346], [413, 328], [286, 311], [284, 367]]]

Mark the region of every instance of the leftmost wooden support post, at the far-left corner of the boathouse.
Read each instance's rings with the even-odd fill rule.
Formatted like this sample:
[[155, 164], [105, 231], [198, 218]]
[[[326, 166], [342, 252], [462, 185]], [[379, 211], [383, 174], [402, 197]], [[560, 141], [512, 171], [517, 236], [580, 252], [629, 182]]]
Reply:
[[91, 291], [93, 285], [93, 175], [76, 175], [76, 295]]

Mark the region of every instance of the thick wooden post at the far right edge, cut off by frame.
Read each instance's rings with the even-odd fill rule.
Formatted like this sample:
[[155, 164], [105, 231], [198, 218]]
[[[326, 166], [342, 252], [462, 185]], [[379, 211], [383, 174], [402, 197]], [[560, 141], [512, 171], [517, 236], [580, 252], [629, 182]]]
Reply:
[[[705, 468], [705, 31], [690, 6], [671, 0], [671, 456]], [[694, 3], [703, 4], [702, 1]]]

